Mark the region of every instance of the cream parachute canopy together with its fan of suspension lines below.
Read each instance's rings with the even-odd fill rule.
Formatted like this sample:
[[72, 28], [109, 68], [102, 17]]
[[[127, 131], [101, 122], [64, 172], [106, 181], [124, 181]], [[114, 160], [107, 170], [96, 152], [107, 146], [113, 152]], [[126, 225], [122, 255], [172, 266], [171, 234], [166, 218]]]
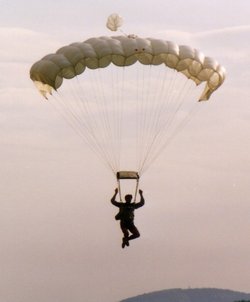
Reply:
[[36, 62], [30, 77], [115, 174], [141, 175], [196, 100], [208, 100], [223, 83], [225, 70], [190, 46], [114, 36], [62, 47]]

